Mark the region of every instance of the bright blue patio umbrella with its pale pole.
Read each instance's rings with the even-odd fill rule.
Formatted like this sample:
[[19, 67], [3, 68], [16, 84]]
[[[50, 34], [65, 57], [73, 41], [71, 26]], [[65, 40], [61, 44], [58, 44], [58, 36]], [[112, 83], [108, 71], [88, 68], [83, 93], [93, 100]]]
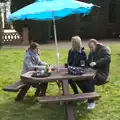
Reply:
[[79, 2], [75, 0], [36, 0], [32, 3], [8, 16], [8, 22], [15, 20], [53, 20], [54, 38], [56, 45], [56, 62], [59, 65], [59, 53], [57, 46], [57, 35], [55, 20], [61, 19], [71, 14], [90, 13], [93, 4]]

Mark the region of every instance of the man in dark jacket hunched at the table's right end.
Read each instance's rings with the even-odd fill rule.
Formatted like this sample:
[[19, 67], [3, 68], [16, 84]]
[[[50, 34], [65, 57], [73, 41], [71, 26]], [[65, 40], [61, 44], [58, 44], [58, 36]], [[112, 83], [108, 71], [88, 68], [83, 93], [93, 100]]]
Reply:
[[[95, 39], [89, 40], [88, 46], [90, 53], [87, 59], [87, 66], [96, 70], [97, 73], [93, 80], [79, 83], [79, 87], [84, 93], [94, 92], [95, 85], [102, 85], [106, 82], [111, 62], [110, 49], [108, 47], [98, 43]], [[94, 99], [89, 99], [88, 103], [88, 109], [95, 107]]]

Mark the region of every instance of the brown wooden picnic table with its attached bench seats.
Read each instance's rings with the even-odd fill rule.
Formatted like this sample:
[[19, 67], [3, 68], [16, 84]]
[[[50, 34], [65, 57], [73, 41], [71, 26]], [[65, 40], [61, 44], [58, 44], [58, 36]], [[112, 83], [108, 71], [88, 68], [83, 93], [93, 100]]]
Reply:
[[[49, 77], [32, 77], [32, 74], [35, 73], [35, 71], [27, 72], [23, 75], [21, 75], [21, 80], [16, 82], [15, 84], [9, 86], [8, 88], [3, 88], [3, 90], [10, 90], [17, 92], [19, 89], [21, 89], [17, 95], [17, 97], [20, 97], [23, 99], [25, 94], [27, 93], [26, 88], [30, 87], [30, 85], [36, 84], [36, 83], [45, 83], [45, 82], [56, 82], [62, 81], [62, 88], [63, 88], [63, 95], [61, 96], [44, 96], [44, 97], [38, 97], [38, 101], [40, 103], [51, 103], [51, 102], [64, 102], [67, 120], [75, 120], [74, 113], [73, 113], [73, 106], [72, 101], [76, 100], [86, 100], [90, 98], [98, 98], [100, 97], [98, 93], [96, 92], [90, 92], [90, 93], [82, 93], [77, 95], [71, 95], [69, 92], [69, 83], [68, 79], [73, 80], [91, 80], [95, 76], [96, 71], [94, 70], [85, 70], [85, 74], [83, 75], [69, 75], [66, 72], [66, 69], [61, 69], [59, 72], [53, 72], [51, 76]], [[26, 86], [23, 88], [23, 86]], [[22, 92], [21, 92], [22, 91]]]

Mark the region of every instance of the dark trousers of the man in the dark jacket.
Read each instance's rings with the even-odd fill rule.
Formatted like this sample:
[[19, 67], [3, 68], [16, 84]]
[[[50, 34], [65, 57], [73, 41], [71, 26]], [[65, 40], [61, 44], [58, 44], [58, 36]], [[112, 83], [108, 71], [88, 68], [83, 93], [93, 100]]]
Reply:
[[[94, 92], [95, 90], [94, 80], [76, 81], [76, 84], [79, 86], [83, 93]], [[92, 102], [94, 102], [94, 99], [88, 99], [88, 103]]]

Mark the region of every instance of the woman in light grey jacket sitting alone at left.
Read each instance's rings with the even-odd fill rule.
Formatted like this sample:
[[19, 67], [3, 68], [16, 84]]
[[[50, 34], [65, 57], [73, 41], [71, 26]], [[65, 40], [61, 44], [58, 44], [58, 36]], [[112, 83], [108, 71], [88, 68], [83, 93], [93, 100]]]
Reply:
[[[44, 69], [47, 65], [47, 63], [42, 62], [40, 60], [40, 56], [38, 53], [39, 45], [35, 42], [32, 42], [30, 47], [26, 50], [24, 55], [24, 63], [23, 63], [23, 69], [22, 74], [28, 72], [28, 71], [36, 71]], [[41, 84], [35, 84], [33, 87], [37, 87], [37, 90], [35, 92], [35, 96], [45, 95], [46, 89], [47, 89], [48, 83], [41, 83]], [[16, 101], [22, 100], [23, 94], [25, 94], [23, 91], [26, 91], [30, 88], [30, 85], [26, 85], [23, 89], [21, 89], [20, 94], [16, 98]]]

